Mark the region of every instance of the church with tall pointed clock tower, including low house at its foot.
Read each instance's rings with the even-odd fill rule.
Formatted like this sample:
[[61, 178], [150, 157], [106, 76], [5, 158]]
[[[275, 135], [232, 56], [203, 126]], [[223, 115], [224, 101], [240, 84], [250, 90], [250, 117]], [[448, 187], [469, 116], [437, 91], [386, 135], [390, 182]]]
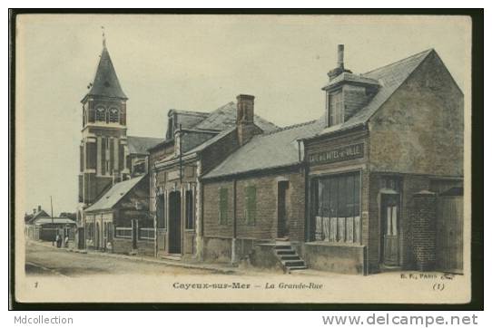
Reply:
[[[147, 149], [162, 139], [127, 135], [128, 97], [114, 70], [105, 39], [95, 77], [88, 88], [89, 92], [81, 101], [78, 246], [106, 249], [112, 247], [114, 222], [132, 227], [135, 222], [132, 219], [148, 217], [148, 184], [140, 180], [148, 173]], [[138, 178], [140, 183], [124, 182], [133, 178]], [[136, 193], [141, 198], [133, 199], [133, 207], [136, 207], [133, 211], [140, 214], [133, 213], [132, 219], [122, 220], [117, 217], [117, 207], [133, 188], [142, 188]], [[114, 189], [118, 189], [117, 195]], [[102, 204], [104, 202], [106, 204]]]

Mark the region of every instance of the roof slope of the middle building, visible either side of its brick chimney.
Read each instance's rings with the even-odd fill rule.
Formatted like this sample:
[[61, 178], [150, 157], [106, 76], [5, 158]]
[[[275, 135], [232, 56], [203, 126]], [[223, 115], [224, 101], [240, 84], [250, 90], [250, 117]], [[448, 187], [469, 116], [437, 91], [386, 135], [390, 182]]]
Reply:
[[[219, 107], [215, 111], [212, 111], [210, 115], [200, 123], [198, 123], [194, 129], [202, 130], [227, 130], [231, 127], [236, 126], [236, 114], [237, 108], [234, 101], [228, 102], [227, 104]], [[264, 131], [276, 130], [278, 127], [262, 119], [258, 115], [254, 115], [254, 123]]]

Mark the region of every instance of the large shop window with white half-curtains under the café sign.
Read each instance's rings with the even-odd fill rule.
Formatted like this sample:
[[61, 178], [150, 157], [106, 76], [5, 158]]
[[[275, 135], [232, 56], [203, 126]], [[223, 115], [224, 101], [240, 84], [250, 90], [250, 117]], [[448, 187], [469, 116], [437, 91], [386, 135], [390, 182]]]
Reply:
[[318, 180], [316, 238], [360, 242], [360, 175], [350, 173]]

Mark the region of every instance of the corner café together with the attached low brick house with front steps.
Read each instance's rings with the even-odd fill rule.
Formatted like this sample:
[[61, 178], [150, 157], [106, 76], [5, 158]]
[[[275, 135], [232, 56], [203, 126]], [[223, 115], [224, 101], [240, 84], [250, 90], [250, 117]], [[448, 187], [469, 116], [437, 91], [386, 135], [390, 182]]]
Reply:
[[355, 74], [341, 45], [329, 78], [319, 120], [255, 135], [203, 176], [204, 259], [459, 271], [463, 93], [438, 54]]

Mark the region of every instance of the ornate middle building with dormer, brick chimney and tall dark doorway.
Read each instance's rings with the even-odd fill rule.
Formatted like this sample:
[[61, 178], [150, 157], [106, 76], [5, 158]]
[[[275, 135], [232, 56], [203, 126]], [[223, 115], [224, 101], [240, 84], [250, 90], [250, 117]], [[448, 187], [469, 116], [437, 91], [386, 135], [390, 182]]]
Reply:
[[166, 139], [150, 150], [156, 254], [202, 258], [202, 176], [252, 135], [277, 129], [254, 115], [252, 96], [212, 112], [168, 112]]

